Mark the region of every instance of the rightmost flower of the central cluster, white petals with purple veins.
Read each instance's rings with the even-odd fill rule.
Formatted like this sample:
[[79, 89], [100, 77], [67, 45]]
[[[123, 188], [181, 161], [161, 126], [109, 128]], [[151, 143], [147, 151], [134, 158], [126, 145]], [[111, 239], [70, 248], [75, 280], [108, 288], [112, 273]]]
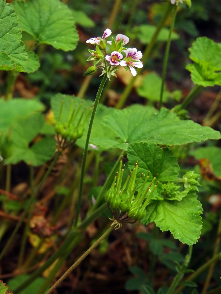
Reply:
[[136, 69], [134, 67], [141, 68], [143, 63], [140, 61], [140, 58], [143, 56], [141, 51], [137, 52], [136, 48], [128, 48], [126, 51], [126, 58], [121, 60], [121, 66], [127, 66], [131, 70], [131, 74], [136, 76]]

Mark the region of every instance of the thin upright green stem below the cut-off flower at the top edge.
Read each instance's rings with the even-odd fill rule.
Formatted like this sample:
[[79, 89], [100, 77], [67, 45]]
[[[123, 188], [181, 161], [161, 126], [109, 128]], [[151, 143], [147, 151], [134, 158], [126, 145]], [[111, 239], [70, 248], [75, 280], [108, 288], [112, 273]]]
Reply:
[[173, 31], [173, 28], [174, 28], [176, 14], [177, 14], [177, 5], [174, 5], [174, 7], [173, 7], [173, 14], [172, 14], [172, 20], [171, 20], [171, 25], [170, 25], [170, 30], [169, 30], [169, 36], [168, 36], [168, 39], [167, 39], [166, 50], [165, 50], [165, 55], [164, 55], [162, 80], [161, 80], [161, 89], [160, 89], [159, 110], [160, 110], [160, 108], [162, 106], [163, 91], [164, 91], [164, 82], [165, 82], [166, 67], [167, 67], [169, 50], [170, 50], [171, 34], [172, 34], [172, 31]]

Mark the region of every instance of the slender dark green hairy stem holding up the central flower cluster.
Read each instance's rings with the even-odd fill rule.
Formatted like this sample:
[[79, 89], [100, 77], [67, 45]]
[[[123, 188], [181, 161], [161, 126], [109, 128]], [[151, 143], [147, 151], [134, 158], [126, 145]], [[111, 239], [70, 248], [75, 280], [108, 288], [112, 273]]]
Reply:
[[79, 196], [78, 196], [78, 200], [77, 200], [77, 209], [76, 209], [76, 215], [75, 215], [75, 221], [74, 221], [74, 226], [77, 226], [77, 221], [78, 221], [78, 216], [80, 213], [80, 204], [81, 204], [81, 198], [82, 198], [82, 194], [83, 194], [83, 181], [84, 181], [84, 171], [85, 171], [85, 163], [86, 163], [86, 158], [87, 158], [87, 154], [88, 154], [88, 144], [89, 144], [89, 140], [90, 140], [90, 133], [91, 133], [91, 129], [93, 126], [93, 122], [94, 122], [94, 118], [95, 118], [95, 113], [98, 107], [98, 102], [100, 99], [100, 95], [102, 93], [104, 84], [107, 80], [107, 74], [104, 74], [104, 77], [100, 83], [100, 87], [98, 89], [98, 93], [97, 96], [95, 98], [95, 102], [94, 102], [94, 106], [93, 106], [93, 110], [91, 113], [91, 117], [90, 117], [90, 123], [88, 126], [88, 133], [87, 133], [87, 138], [86, 138], [86, 142], [85, 142], [85, 148], [84, 148], [84, 153], [83, 153], [83, 159], [82, 159], [82, 166], [81, 166], [81, 174], [80, 174], [80, 185], [79, 185]]

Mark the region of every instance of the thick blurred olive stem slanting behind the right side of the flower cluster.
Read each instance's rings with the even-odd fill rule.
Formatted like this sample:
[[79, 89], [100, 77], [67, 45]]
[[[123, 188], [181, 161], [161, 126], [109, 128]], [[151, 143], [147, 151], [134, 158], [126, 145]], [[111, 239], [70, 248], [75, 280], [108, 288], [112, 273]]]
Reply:
[[[142, 57], [142, 62], [143, 64], [145, 64], [146, 59], [149, 57], [151, 50], [156, 42], [156, 39], [159, 35], [159, 32], [161, 31], [162, 27], [164, 26], [166, 20], [168, 19], [171, 10], [173, 9], [173, 5], [171, 3], [168, 3], [167, 8], [165, 10], [164, 16], [162, 17], [161, 21], [159, 22], [158, 26], [156, 27], [156, 31], [154, 32], [150, 43], [148, 44], [148, 46], [146, 47], [143, 57]], [[132, 76], [130, 81], [128, 82], [126, 88], [124, 89], [118, 103], [116, 104], [116, 108], [117, 109], [121, 109], [123, 108], [123, 105], [127, 99], [127, 97], [129, 96], [129, 94], [131, 93], [131, 89], [133, 88], [133, 84], [136, 81], [138, 75], [141, 73], [142, 69], [138, 69], [137, 70], [137, 75], [136, 76]]]

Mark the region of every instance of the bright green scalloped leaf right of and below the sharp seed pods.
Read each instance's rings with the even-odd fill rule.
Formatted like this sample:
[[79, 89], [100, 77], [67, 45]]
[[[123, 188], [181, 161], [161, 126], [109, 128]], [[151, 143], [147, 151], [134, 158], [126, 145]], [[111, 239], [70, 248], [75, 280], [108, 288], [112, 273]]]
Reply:
[[202, 228], [202, 212], [197, 195], [190, 190], [181, 201], [155, 200], [146, 207], [143, 224], [155, 222], [162, 232], [169, 230], [175, 239], [192, 245], [199, 239]]

